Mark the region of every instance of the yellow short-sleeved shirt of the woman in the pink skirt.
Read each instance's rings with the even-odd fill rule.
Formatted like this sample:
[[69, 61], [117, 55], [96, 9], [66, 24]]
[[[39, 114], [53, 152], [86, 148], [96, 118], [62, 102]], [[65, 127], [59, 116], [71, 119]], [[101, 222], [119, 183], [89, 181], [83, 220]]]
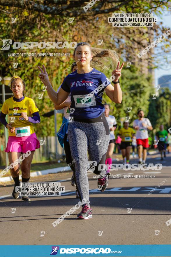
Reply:
[[[1, 112], [8, 114], [8, 123], [15, 128], [30, 127], [30, 133], [34, 133], [33, 124], [29, 121], [25, 121], [21, 116], [21, 112], [26, 112], [28, 117], [32, 117], [32, 113], [38, 112], [38, 108], [34, 103], [34, 100], [25, 96], [21, 102], [15, 102], [13, 97], [5, 100], [3, 103]], [[15, 136], [15, 132], [11, 133], [8, 129], [9, 136]]]

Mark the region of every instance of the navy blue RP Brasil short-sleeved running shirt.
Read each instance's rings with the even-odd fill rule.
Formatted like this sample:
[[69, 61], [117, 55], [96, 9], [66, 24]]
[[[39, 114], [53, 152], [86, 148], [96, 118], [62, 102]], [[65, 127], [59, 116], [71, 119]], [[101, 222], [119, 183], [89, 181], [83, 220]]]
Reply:
[[[70, 108], [74, 108], [74, 112], [70, 113], [70, 116], [77, 119], [99, 117], [105, 111], [102, 97], [103, 91], [109, 84], [110, 80], [105, 74], [96, 69], [84, 74], [78, 74], [77, 71], [70, 73], [61, 85], [64, 91], [70, 92]], [[89, 95], [90, 93], [91, 95]], [[86, 98], [87, 95], [89, 98]], [[82, 99], [84, 100], [83, 103]]]

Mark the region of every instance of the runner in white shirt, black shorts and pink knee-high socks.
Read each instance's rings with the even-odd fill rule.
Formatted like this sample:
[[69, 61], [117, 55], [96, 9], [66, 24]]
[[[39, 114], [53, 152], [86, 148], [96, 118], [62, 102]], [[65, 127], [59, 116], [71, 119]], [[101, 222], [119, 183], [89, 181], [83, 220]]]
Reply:
[[[114, 116], [109, 115], [109, 112], [110, 112], [109, 105], [107, 103], [105, 103], [104, 106], [105, 106], [105, 117], [107, 119], [109, 129], [110, 129], [110, 141], [109, 141], [109, 146], [108, 146], [107, 153], [106, 153], [105, 164], [112, 164], [112, 154], [114, 151], [114, 143], [115, 143], [114, 131], [117, 128], [117, 122], [116, 122], [116, 119]], [[106, 170], [106, 175], [107, 176], [111, 175], [109, 169]]]

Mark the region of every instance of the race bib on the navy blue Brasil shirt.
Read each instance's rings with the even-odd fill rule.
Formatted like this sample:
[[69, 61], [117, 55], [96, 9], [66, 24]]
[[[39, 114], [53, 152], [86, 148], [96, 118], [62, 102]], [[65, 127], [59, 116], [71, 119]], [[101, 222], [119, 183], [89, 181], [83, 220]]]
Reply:
[[[94, 98], [94, 94], [91, 95], [91, 98], [86, 98], [87, 95], [73, 95], [74, 101], [75, 101], [75, 107], [90, 107], [96, 105], [96, 100]], [[82, 103], [81, 100], [86, 99], [85, 103]]]

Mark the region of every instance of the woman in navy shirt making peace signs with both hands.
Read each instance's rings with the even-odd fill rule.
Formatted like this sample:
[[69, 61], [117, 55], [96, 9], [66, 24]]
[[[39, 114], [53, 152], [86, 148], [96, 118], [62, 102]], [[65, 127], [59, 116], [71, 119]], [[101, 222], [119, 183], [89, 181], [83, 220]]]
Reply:
[[[93, 172], [98, 175], [98, 188], [103, 192], [107, 188], [108, 180], [105, 176], [105, 169], [98, 169], [98, 164], [103, 164], [105, 168], [106, 152], [110, 140], [110, 130], [104, 115], [105, 107], [102, 104], [102, 96], [105, 91], [107, 96], [115, 103], [121, 103], [122, 91], [119, 85], [121, 70], [124, 65], [120, 62], [117, 53], [107, 49], [91, 48], [82, 42], [77, 44], [74, 51], [74, 60], [77, 62], [77, 71], [68, 74], [64, 79], [61, 89], [57, 93], [49, 81], [45, 66], [43, 70], [39, 68], [39, 77], [43, 84], [47, 86], [47, 93], [56, 105], [63, 103], [69, 93], [71, 96], [71, 106], [74, 111], [70, 114], [68, 126], [68, 138], [71, 154], [75, 162], [75, 178], [80, 199], [86, 199], [82, 211], [77, 215], [78, 219], [92, 218], [92, 209], [89, 201], [89, 183], [87, 176], [88, 156], [91, 163], [95, 163]], [[103, 60], [111, 58], [113, 65], [117, 67], [112, 72], [111, 81], [105, 74], [92, 68], [94, 63], [102, 67]], [[79, 61], [78, 61], [79, 59]], [[102, 166], [102, 165], [100, 165]]]

